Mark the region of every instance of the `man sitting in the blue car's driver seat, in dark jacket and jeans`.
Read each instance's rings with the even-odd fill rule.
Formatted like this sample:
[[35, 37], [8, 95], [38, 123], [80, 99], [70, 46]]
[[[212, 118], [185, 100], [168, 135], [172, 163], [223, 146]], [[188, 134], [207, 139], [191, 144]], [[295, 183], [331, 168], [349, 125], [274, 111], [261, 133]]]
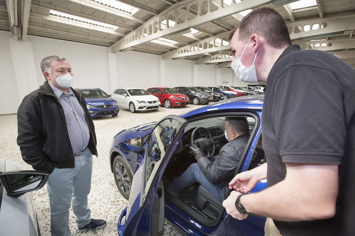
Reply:
[[168, 191], [175, 197], [186, 187], [197, 182], [210, 192], [219, 202], [228, 194], [228, 183], [234, 177], [236, 168], [249, 140], [249, 125], [245, 117], [225, 118], [225, 137], [229, 143], [219, 151], [218, 156], [208, 159], [200, 148], [190, 146], [197, 163], [189, 168], [171, 185]]

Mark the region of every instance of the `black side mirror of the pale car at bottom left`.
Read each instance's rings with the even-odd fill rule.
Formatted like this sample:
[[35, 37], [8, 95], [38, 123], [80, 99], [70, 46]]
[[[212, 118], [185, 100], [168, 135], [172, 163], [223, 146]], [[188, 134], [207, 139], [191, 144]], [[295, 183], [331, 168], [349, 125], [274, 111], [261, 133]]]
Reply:
[[48, 173], [38, 171], [9, 171], [0, 174], [0, 179], [7, 195], [20, 197], [26, 192], [42, 188], [48, 176]]

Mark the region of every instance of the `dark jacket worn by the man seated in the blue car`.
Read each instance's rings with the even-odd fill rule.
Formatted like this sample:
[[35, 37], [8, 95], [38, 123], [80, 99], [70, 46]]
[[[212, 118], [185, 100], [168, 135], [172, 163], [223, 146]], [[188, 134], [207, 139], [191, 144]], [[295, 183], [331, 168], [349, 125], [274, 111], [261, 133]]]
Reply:
[[223, 184], [224, 194], [228, 194], [228, 183], [234, 177], [249, 137], [249, 133], [243, 134], [226, 143], [213, 163], [207, 157], [201, 157], [197, 161], [198, 167], [209, 182]]

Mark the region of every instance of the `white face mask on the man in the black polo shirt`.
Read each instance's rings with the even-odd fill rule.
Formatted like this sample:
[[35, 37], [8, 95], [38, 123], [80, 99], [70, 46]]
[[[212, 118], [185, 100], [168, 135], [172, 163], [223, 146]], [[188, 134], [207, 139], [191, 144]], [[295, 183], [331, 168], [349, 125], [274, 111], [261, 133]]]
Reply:
[[[250, 42], [250, 39], [249, 39], [248, 43], [246, 44], [245, 48], [248, 46], [249, 42]], [[243, 56], [245, 48], [244, 48], [242, 54], [240, 55], [240, 58]], [[260, 48], [260, 44], [259, 44], [259, 48]], [[258, 55], [259, 48], [256, 51], [254, 62], [251, 67], [245, 67], [239, 57], [235, 58], [231, 67], [234, 70], [235, 75], [241, 81], [248, 82], [248, 83], [257, 83], [258, 82], [258, 79], [256, 77], [256, 70], [255, 70], [254, 64], [255, 64], [256, 56]]]

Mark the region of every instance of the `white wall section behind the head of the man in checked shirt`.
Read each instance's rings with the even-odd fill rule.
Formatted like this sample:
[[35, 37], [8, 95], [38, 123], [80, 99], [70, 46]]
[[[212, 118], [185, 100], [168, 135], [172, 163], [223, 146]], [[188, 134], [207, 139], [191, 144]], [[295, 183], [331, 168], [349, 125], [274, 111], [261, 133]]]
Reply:
[[108, 47], [32, 35], [27, 38], [32, 42], [38, 86], [45, 81], [40, 69], [42, 58], [57, 55], [65, 57], [71, 65], [74, 74], [73, 88], [101, 88], [110, 92]]

